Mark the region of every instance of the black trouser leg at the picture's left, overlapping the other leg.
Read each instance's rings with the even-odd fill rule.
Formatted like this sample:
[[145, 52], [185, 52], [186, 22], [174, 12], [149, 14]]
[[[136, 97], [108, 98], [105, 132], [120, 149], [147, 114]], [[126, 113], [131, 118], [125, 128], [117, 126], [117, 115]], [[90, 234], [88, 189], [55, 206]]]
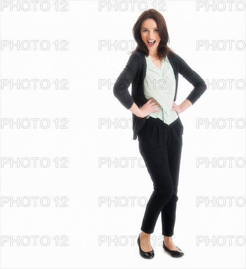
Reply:
[[139, 151], [153, 181], [154, 191], [146, 205], [141, 230], [154, 232], [158, 216], [173, 197], [174, 185], [168, 161], [169, 125], [149, 117], [138, 135]]

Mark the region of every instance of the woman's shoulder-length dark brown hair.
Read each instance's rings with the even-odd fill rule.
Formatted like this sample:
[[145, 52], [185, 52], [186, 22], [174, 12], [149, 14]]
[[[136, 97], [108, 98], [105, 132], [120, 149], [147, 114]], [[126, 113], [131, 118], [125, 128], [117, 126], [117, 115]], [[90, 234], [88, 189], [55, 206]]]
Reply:
[[[147, 19], [153, 19], [157, 23], [160, 35], [160, 43], [157, 46], [157, 56], [160, 59], [163, 59], [167, 56], [168, 53], [173, 51], [167, 44], [169, 43], [169, 35], [167, 31], [167, 25], [164, 17], [155, 9], [151, 8], [145, 10], [137, 19], [133, 27], [133, 36], [137, 43], [134, 51], [138, 50], [143, 52], [146, 56], [149, 56], [149, 49], [144, 44], [141, 38], [141, 25], [142, 22]], [[134, 52], [132, 51], [132, 53]]]

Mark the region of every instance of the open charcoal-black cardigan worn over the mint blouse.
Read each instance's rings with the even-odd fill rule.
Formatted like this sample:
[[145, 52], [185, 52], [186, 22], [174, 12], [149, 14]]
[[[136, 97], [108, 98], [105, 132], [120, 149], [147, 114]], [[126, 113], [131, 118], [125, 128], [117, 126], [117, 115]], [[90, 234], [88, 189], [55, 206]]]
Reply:
[[[177, 97], [179, 74], [181, 74], [187, 81], [189, 81], [194, 89], [190, 92], [188, 97], [192, 105], [200, 98], [203, 92], [207, 89], [204, 80], [198, 73], [192, 70], [186, 62], [175, 52], [170, 52], [167, 58], [173, 67], [176, 89], [174, 101]], [[126, 108], [130, 109], [135, 104], [140, 108], [148, 99], [144, 95], [144, 78], [146, 76], [146, 59], [144, 53], [135, 51], [129, 57], [126, 67], [120, 73], [113, 86], [113, 94], [120, 101], [120, 103]], [[132, 95], [128, 88], [132, 84]], [[133, 114], [133, 139], [136, 140], [137, 134], [144, 126], [146, 117], [138, 117]]]

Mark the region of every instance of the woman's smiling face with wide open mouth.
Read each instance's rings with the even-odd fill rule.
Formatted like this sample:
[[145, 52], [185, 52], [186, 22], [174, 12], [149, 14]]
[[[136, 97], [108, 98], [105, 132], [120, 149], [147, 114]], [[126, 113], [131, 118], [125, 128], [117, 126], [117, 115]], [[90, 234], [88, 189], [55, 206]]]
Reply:
[[153, 19], [147, 19], [141, 25], [141, 38], [149, 51], [156, 51], [160, 43], [160, 35], [157, 23]]

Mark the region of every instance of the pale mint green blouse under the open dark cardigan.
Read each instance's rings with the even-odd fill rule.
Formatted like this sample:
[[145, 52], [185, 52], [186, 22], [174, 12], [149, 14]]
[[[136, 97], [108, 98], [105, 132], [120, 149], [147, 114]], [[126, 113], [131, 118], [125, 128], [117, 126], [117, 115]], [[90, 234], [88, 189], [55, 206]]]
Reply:
[[150, 56], [145, 56], [147, 69], [144, 79], [144, 95], [147, 99], [153, 97], [161, 107], [159, 112], [152, 112], [147, 118], [160, 118], [164, 123], [171, 124], [179, 116], [176, 111], [172, 109], [176, 80], [174, 76], [173, 67], [168, 61], [168, 58], [162, 60], [161, 68], [159, 69], [151, 60]]

